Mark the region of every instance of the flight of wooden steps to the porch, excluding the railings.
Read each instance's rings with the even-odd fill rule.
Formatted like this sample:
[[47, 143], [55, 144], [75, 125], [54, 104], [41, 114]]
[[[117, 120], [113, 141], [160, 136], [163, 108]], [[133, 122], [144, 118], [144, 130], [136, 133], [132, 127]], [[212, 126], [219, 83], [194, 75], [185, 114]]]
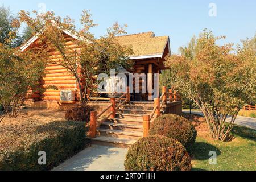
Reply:
[[97, 137], [90, 138], [93, 144], [130, 147], [143, 137], [143, 115], [150, 114], [154, 102], [130, 102], [117, 110], [114, 119], [107, 119], [97, 130]]

